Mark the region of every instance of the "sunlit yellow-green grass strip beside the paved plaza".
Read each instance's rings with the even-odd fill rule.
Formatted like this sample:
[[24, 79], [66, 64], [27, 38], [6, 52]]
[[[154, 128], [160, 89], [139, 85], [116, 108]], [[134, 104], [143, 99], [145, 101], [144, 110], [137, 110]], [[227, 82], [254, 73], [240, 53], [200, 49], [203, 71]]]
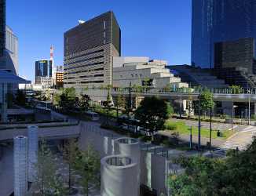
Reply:
[[[173, 122], [173, 121], [166, 121], [166, 131], [167, 132], [179, 132], [181, 135], [189, 135], [190, 134], [190, 126], [185, 125], [185, 122]], [[212, 138], [213, 139], [227, 139], [229, 136], [234, 134], [234, 131], [221, 131], [221, 137], [217, 136], [217, 130], [212, 131]], [[198, 128], [192, 127], [192, 136], [198, 136]], [[201, 128], [201, 136], [203, 137], [210, 137], [210, 129]]]

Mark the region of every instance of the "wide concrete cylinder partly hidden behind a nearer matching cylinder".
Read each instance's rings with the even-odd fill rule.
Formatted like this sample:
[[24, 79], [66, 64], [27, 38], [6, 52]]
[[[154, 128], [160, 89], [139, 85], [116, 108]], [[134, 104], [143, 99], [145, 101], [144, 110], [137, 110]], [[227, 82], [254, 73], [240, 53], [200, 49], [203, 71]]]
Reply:
[[[141, 147], [140, 142], [137, 139], [130, 137], [121, 137], [115, 140], [115, 154], [121, 154], [123, 156], [133, 159], [133, 162], [137, 163], [137, 181], [141, 182]], [[140, 193], [140, 187], [137, 189]]]

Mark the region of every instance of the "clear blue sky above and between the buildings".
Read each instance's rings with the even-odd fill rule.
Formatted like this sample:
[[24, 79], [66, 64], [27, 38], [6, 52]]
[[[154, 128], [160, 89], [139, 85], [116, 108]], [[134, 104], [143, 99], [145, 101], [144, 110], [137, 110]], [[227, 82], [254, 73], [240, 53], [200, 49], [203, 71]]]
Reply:
[[20, 75], [35, 76], [35, 60], [63, 64], [63, 34], [112, 10], [122, 29], [122, 56], [190, 64], [191, 0], [6, 0], [6, 21], [19, 38]]

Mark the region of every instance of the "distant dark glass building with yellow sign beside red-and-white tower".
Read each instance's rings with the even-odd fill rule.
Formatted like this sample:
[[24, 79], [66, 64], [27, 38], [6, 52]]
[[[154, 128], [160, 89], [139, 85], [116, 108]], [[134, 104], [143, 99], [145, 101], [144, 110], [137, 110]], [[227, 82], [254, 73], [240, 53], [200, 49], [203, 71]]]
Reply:
[[53, 60], [35, 61], [35, 82], [38, 83], [40, 77], [52, 77]]

